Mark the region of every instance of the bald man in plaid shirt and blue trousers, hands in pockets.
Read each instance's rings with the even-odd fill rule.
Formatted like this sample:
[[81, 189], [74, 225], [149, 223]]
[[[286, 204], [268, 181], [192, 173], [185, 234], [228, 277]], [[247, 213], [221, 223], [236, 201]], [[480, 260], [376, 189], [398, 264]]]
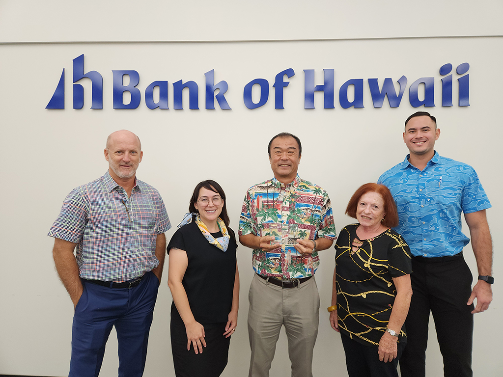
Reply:
[[112, 133], [108, 171], [68, 194], [48, 233], [75, 311], [69, 376], [98, 376], [113, 326], [119, 376], [143, 374], [171, 224], [157, 190], [136, 179], [142, 156], [138, 136]]

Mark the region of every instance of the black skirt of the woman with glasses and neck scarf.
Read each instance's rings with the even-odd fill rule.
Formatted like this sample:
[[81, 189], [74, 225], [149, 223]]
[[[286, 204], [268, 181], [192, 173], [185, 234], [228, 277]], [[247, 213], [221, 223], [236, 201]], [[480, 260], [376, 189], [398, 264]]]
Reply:
[[229, 356], [230, 336], [223, 336], [224, 323], [212, 323], [204, 326], [206, 348], [196, 355], [191, 344], [187, 350], [187, 332], [185, 324], [177, 310], [171, 314], [171, 348], [173, 364], [177, 377], [218, 377], [222, 374]]

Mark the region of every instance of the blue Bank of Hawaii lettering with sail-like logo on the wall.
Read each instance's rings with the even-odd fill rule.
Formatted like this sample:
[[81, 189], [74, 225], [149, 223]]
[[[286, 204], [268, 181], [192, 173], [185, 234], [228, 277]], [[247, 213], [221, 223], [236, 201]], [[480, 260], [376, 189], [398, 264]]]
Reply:
[[[470, 106], [470, 75], [467, 73], [470, 64], [461, 63], [456, 68], [458, 80], [458, 106]], [[323, 69], [323, 84], [315, 84], [314, 69], [304, 69], [304, 109], [315, 109], [314, 93], [323, 92], [323, 109], [334, 109], [335, 73], [333, 68]], [[453, 106], [453, 65], [443, 64], [439, 69], [442, 94], [442, 107]], [[112, 70], [113, 73], [113, 108], [114, 109], [137, 109], [141, 104], [141, 91], [137, 86], [140, 82], [140, 74], [136, 70]], [[284, 109], [285, 88], [291, 81], [285, 81], [295, 75], [293, 68], [285, 69], [276, 74], [273, 87], [275, 89], [274, 107]], [[215, 84], [214, 69], [204, 73], [205, 81], [205, 108], [215, 109], [215, 99], [221, 110], [231, 110], [225, 93], [229, 89], [227, 81], [221, 80]], [[286, 76], [286, 77], [285, 77]], [[124, 78], [129, 78], [129, 83], [124, 84]], [[92, 104], [91, 109], [103, 109], [103, 76], [98, 71], [84, 72], [84, 55], [73, 59], [73, 108], [82, 109], [84, 105], [84, 88], [78, 81], [88, 78], [91, 80]], [[435, 77], [420, 77], [409, 87], [409, 104], [411, 107], [435, 107]], [[407, 77], [402, 75], [396, 83], [393, 78], [386, 77], [379, 87], [378, 78], [367, 79], [368, 90], [374, 108], [383, 107], [385, 98], [388, 99], [390, 108], [400, 106], [403, 93], [407, 86]], [[186, 81], [182, 79], [173, 83], [173, 108], [183, 110], [183, 92], [189, 89], [189, 108], [199, 110], [199, 86], [196, 81]], [[145, 88], [145, 106], [150, 110], [169, 110], [168, 105], [169, 82], [166, 80], [156, 80]], [[243, 104], [247, 109], [257, 109], [269, 101], [269, 81], [265, 78], [256, 78], [249, 81], [243, 88]], [[159, 100], [155, 102], [154, 91], [158, 93]], [[260, 100], [253, 101], [253, 92], [260, 91]], [[339, 105], [343, 109], [363, 109], [365, 85], [363, 78], [351, 78], [346, 80], [339, 87]], [[125, 104], [124, 94], [128, 93], [130, 101]], [[352, 97], [352, 101], [350, 98]], [[46, 106], [46, 109], [65, 108], [65, 68], [61, 72], [56, 89]]]

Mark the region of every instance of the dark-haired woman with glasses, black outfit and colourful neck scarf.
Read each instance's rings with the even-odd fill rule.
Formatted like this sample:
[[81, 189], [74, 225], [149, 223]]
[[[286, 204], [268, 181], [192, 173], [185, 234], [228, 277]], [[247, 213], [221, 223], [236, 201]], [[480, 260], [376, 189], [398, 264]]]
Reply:
[[167, 246], [175, 374], [217, 377], [237, 325], [236, 237], [217, 182], [196, 186], [189, 212]]

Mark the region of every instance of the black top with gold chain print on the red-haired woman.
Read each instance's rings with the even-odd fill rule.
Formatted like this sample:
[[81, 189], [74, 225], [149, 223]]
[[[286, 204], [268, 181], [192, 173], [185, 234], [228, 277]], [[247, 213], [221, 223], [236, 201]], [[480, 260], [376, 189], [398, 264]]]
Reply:
[[[362, 240], [353, 252], [359, 224], [346, 226], [336, 243], [336, 290], [339, 329], [352, 339], [379, 345], [393, 309], [396, 288], [393, 277], [412, 270], [410, 250], [395, 231]], [[405, 342], [405, 328], [398, 334]]]

